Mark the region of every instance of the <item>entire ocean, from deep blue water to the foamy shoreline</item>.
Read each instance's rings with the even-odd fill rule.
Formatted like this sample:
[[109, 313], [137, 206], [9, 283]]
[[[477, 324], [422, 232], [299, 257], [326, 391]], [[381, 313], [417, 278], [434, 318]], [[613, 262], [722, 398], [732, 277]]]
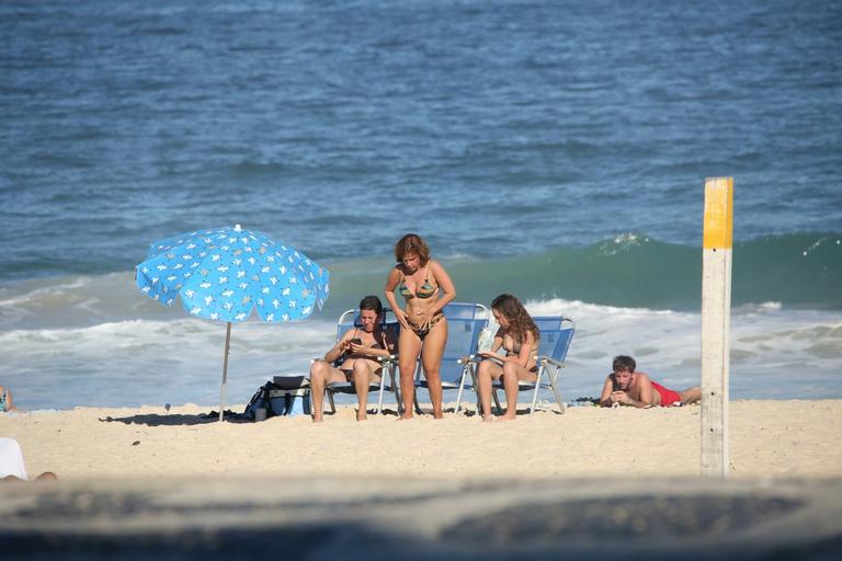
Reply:
[[842, 5], [0, 4], [0, 383], [26, 409], [218, 400], [224, 324], [132, 271], [232, 226], [331, 272], [235, 325], [229, 402], [382, 294], [407, 231], [457, 299], [577, 321], [562, 391], [632, 353], [698, 383], [704, 180], [735, 179], [733, 398], [842, 397]]

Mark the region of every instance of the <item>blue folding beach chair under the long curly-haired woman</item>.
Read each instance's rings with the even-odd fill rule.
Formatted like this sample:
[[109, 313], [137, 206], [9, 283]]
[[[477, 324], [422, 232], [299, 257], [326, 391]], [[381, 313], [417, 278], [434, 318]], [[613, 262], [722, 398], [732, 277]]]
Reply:
[[[565, 403], [561, 400], [561, 391], [558, 388], [558, 375], [561, 368], [567, 365], [567, 352], [570, 350], [570, 343], [573, 341], [573, 334], [576, 333], [576, 322], [570, 318], [564, 316], [558, 317], [538, 317], [533, 318], [535, 324], [538, 325], [541, 332], [541, 348], [538, 358], [536, 360], [538, 367], [538, 377], [534, 383], [527, 381], [521, 381], [517, 383], [517, 392], [532, 391], [532, 407], [530, 408], [530, 414], [535, 414], [535, 409], [538, 402], [538, 390], [543, 388], [549, 388], [553, 390], [553, 394], [558, 403], [559, 413], [564, 414]], [[548, 348], [548, 343], [551, 342], [551, 348]], [[546, 352], [549, 351], [547, 354]], [[476, 386], [476, 375], [475, 386]], [[545, 382], [542, 382], [542, 378], [546, 378]], [[497, 390], [503, 389], [502, 381], [496, 381], [491, 385], [491, 394], [494, 398], [494, 405], [497, 411], [502, 413], [503, 408], [500, 405], [500, 399], [497, 394]], [[515, 404], [516, 407], [516, 404]]]

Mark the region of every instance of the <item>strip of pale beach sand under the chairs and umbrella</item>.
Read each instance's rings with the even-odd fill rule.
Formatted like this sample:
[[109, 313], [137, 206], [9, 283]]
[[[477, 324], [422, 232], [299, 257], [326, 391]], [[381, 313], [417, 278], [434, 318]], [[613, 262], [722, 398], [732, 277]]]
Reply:
[[[232, 408], [241, 411], [242, 407]], [[30, 476], [66, 480], [159, 476], [363, 476], [545, 478], [699, 473], [697, 405], [675, 409], [568, 408], [483, 424], [448, 412], [357, 423], [340, 408], [309, 417], [217, 423], [193, 404], [0, 415]], [[388, 411], [388, 410], [387, 410]], [[840, 477], [842, 400], [736, 401], [730, 405], [733, 477]]]

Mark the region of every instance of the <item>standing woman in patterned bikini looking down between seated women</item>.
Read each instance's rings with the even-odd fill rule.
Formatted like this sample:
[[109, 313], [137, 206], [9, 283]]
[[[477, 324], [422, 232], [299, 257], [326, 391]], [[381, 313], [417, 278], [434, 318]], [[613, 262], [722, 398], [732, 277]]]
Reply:
[[[456, 297], [456, 288], [444, 267], [430, 259], [426, 242], [416, 233], [408, 233], [398, 240], [395, 260], [398, 264], [386, 279], [386, 300], [401, 325], [398, 340], [398, 368], [403, 396], [401, 419], [412, 419], [416, 397], [412, 378], [419, 355], [430, 389], [433, 416], [442, 419], [440, 368], [447, 343], [447, 319], [442, 309]], [[396, 290], [406, 298], [406, 309], [398, 306]]]

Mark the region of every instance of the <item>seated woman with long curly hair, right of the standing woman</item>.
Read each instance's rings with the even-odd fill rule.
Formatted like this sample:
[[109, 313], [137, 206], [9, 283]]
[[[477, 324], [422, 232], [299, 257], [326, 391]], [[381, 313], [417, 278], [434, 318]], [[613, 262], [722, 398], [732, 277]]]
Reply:
[[[491, 421], [491, 390], [494, 380], [502, 379], [505, 391], [505, 413], [501, 421], [514, 421], [517, 414], [517, 382], [537, 379], [538, 342], [541, 334], [523, 304], [510, 294], [501, 294], [491, 302], [491, 313], [500, 329], [491, 348], [479, 353], [482, 360], [477, 369], [477, 386], [482, 421]], [[499, 348], [505, 355], [499, 355]]]

